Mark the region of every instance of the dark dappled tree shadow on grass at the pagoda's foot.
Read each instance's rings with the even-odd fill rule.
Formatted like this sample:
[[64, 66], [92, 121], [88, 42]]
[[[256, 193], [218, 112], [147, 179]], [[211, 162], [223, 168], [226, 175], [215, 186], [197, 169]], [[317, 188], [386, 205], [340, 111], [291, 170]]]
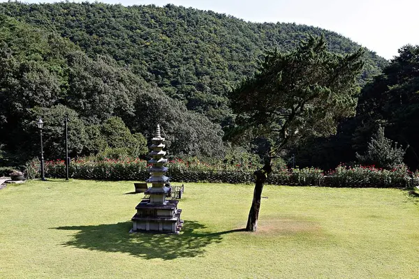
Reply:
[[233, 229], [226, 232], [202, 232], [206, 226], [196, 221], [186, 220], [181, 234], [128, 233], [131, 222], [57, 227], [55, 229], [78, 230], [72, 240], [62, 243], [89, 250], [105, 252], [125, 252], [143, 259], [176, 259], [179, 257], [197, 257], [203, 255], [205, 247], [220, 243], [223, 234], [243, 232]]

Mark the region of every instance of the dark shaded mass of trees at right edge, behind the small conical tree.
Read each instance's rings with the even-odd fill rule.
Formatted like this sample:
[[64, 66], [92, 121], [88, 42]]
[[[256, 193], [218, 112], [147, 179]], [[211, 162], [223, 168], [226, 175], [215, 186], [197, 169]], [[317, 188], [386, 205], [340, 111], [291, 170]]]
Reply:
[[309, 139], [296, 150], [300, 166], [324, 169], [355, 161], [355, 153], [365, 153], [379, 126], [385, 137], [406, 147], [404, 162], [419, 167], [419, 46], [406, 45], [390, 61], [383, 74], [364, 86], [356, 116], [343, 121], [332, 137]]

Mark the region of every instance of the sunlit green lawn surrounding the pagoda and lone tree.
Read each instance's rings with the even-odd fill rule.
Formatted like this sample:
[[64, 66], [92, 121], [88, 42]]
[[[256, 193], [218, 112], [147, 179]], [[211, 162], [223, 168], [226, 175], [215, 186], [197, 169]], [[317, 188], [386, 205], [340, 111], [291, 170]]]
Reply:
[[419, 278], [419, 199], [397, 189], [187, 183], [179, 235], [128, 234], [133, 183], [0, 190], [0, 278]]

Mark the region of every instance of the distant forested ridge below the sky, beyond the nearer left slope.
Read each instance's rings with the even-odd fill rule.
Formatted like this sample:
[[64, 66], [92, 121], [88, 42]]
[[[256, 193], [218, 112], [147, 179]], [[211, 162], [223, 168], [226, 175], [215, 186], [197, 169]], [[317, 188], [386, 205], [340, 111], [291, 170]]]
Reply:
[[[112, 56], [168, 96], [184, 101], [189, 110], [203, 112], [223, 125], [230, 119], [226, 93], [256, 70], [266, 50], [291, 50], [308, 33], [323, 34], [332, 52], [359, 48], [337, 33], [315, 27], [244, 22], [173, 5], [9, 2], [0, 4], [0, 13], [55, 30], [91, 58]], [[372, 52], [365, 56], [361, 84], [380, 73], [386, 63]]]

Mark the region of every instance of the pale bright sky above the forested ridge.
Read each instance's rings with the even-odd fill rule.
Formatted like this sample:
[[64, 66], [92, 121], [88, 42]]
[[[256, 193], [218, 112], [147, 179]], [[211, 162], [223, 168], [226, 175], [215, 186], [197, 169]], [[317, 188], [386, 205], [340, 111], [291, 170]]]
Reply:
[[[4, 0], [0, 0], [4, 1]], [[28, 3], [54, 0], [23, 0]], [[57, 0], [55, 0], [57, 1]], [[81, 2], [75, 0], [75, 2]], [[101, 0], [124, 6], [193, 7], [251, 22], [295, 22], [335, 31], [392, 59], [403, 45], [419, 45], [419, 0]]]

